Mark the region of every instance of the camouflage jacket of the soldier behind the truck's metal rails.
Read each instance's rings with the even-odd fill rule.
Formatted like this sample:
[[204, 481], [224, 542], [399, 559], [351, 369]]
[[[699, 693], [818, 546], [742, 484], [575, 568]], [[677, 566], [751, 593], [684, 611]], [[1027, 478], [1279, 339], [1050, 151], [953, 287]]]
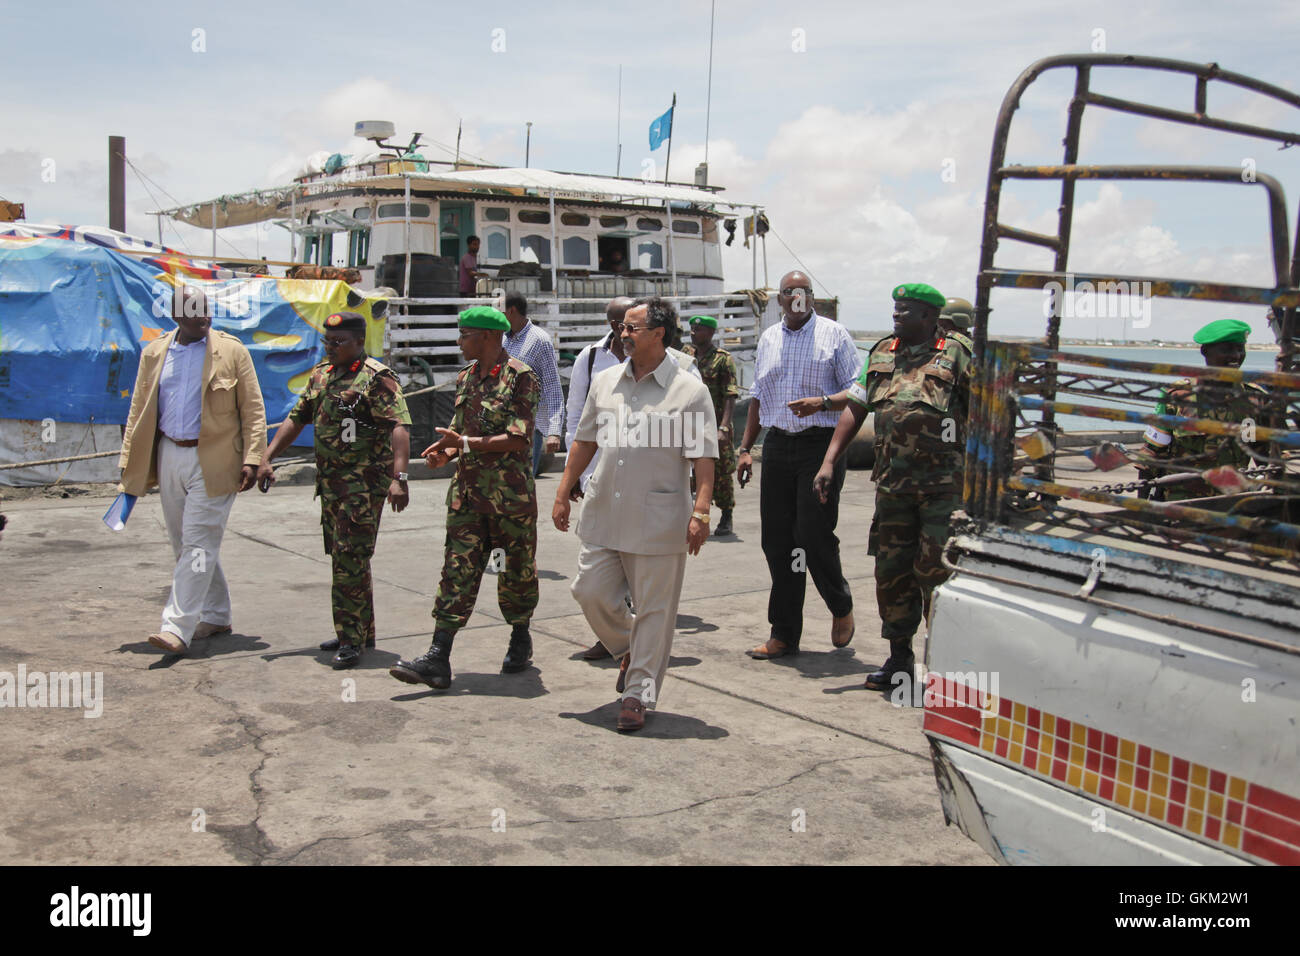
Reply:
[[[1234, 424], [1251, 420], [1262, 427], [1271, 425], [1274, 419], [1268, 402], [1268, 390], [1254, 384], [1202, 382], [1197, 385], [1192, 378], [1179, 378], [1161, 393], [1156, 414]], [[1170, 431], [1162, 425], [1147, 425], [1139, 457], [1176, 462], [1176, 464], [1184, 466], [1186, 471], [1205, 471], [1223, 464], [1234, 468], [1249, 468], [1252, 464], [1251, 455], [1231, 436], [1204, 434], [1188, 428]], [[1178, 468], [1175, 467], [1174, 471]], [[1148, 468], [1144, 470], [1144, 473], [1160, 476], [1167, 472], [1164, 468]], [[1210, 494], [1217, 494], [1217, 492], [1204, 481], [1188, 481], [1167, 486], [1165, 499], [1197, 498]]]

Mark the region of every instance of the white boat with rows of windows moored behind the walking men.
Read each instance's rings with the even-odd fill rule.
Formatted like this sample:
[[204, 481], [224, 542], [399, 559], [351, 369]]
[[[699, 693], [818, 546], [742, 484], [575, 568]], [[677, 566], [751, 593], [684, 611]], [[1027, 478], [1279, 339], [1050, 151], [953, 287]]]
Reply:
[[[289, 265], [352, 269], [360, 287], [391, 287], [396, 308], [385, 354], [404, 380], [441, 384], [454, 375], [454, 312], [511, 291], [529, 298], [530, 319], [562, 359], [604, 334], [604, 307], [615, 295], [663, 295], [684, 315], [718, 316], [738, 362], [753, 356], [764, 323], [776, 320], [768, 297], [727, 294], [722, 269], [722, 234], [736, 230], [737, 212], [762, 221], [762, 206], [724, 196], [702, 170], [698, 185], [688, 185], [438, 163], [415, 153], [417, 138], [407, 147], [386, 143], [391, 124], [361, 122], [356, 135], [373, 138], [380, 152], [355, 161], [333, 156], [289, 186], [156, 215], [211, 229], [214, 258], [217, 230], [274, 221], [292, 234]], [[481, 241], [478, 271], [490, 277], [465, 298], [454, 284], [437, 284], [447, 281], [471, 235]], [[384, 263], [393, 272], [382, 273]], [[434, 271], [425, 273], [429, 282], [421, 282], [421, 265]], [[757, 239], [751, 267], [753, 290]], [[399, 282], [386, 281], [394, 274]]]

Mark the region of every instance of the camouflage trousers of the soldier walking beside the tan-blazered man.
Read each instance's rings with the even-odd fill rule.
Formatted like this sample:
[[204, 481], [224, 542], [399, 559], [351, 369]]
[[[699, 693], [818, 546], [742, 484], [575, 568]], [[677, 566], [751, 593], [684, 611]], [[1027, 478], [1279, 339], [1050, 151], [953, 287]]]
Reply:
[[385, 498], [365, 492], [321, 496], [321, 531], [334, 572], [330, 607], [339, 644], [363, 646], [367, 640], [374, 640], [370, 557], [380, 535]]

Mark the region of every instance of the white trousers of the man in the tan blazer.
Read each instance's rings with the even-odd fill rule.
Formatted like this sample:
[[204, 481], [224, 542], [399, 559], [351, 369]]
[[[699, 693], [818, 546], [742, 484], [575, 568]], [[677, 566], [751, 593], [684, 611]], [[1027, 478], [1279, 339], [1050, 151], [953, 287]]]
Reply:
[[159, 497], [176, 554], [172, 596], [162, 609], [162, 630], [188, 646], [200, 620], [230, 623], [230, 591], [217, 551], [235, 496], [208, 497], [198, 446], [185, 449], [162, 436], [159, 438]]

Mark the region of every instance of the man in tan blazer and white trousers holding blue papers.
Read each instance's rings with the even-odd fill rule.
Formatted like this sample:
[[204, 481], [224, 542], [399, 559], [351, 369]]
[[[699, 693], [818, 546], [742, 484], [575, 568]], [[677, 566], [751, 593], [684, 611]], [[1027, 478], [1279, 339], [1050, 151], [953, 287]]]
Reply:
[[177, 287], [172, 317], [177, 329], [140, 354], [118, 464], [127, 494], [159, 488], [177, 561], [150, 644], [182, 654], [195, 637], [230, 631], [217, 551], [235, 493], [252, 488], [266, 450], [266, 412], [248, 350], [212, 328], [203, 291]]

